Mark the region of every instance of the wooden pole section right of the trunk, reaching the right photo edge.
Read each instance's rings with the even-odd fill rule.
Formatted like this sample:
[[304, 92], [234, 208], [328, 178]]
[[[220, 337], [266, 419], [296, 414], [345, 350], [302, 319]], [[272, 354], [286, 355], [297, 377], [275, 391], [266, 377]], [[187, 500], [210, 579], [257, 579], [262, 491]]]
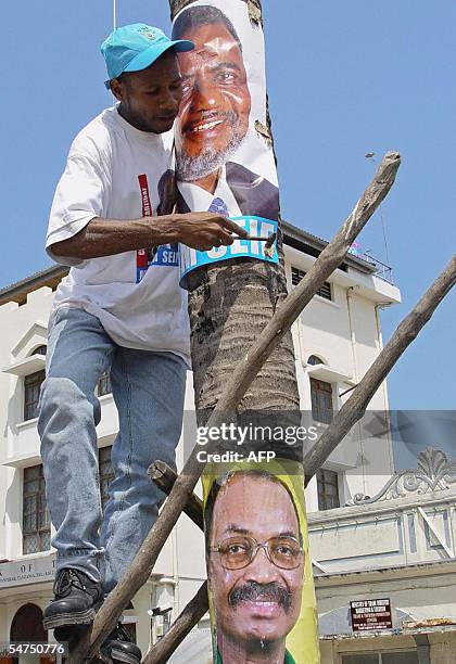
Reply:
[[429, 321], [436, 307], [455, 283], [456, 257], [453, 257], [443, 272], [426, 291], [416, 307], [400, 323], [383, 350], [353, 391], [352, 396], [335, 414], [331, 424], [324, 432], [314, 448], [305, 456], [306, 484], [316, 471], [321, 468], [330, 454], [352, 429], [353, 424], [364, 416], [370, 399], [388, 373], [406, 348], [415, 341], [420, 330]]

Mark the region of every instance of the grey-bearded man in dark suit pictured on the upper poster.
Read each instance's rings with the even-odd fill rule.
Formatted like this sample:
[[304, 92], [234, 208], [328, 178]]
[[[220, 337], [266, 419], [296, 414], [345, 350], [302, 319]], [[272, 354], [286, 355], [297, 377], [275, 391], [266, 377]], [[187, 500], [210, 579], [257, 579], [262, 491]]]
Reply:
[[192, 7], [178, 15], [173, 38], [195, 44], [179, 54], [183, 99], [176, 126], [178, 209], [277, 220], [277, 187], [229, 161], [248, 133], [252, 105], [236, 28], [217, 8]]

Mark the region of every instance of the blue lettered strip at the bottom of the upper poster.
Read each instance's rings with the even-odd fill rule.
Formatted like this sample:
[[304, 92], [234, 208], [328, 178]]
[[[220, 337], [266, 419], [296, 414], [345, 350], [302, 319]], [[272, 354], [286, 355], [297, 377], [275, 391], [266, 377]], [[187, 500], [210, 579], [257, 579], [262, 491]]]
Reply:
[[[254, 216], [230, 217], [230, 219], [245, 229], [252, 238], [268, 238], [271, 233], [277, 233], [278, 224], [271, 219]], [[219, 246], [208, 252], [200, 252], [181, 244], [179, 247], [180, 286], [187, 289], [186, 276], [192, 270], [220, 260], [249, 257], [277, 264], [279, 261], [277, 239], [269, 252], [265, 252], [265, 245], [266, 242], [261, 240], [235, 240], [230, 246]]]

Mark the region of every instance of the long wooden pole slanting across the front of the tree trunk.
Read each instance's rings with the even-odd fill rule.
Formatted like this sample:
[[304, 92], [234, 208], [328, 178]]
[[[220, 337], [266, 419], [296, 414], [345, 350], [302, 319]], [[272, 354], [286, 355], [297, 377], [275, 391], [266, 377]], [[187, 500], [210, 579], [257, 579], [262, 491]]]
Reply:
[[[385, 154], [372, 181], [337, 235], [324, 248], [304, 279], [282, 302], [243, 360], [236, 366], [227, 381], [224, 394], [206, 423], [207, 427], [219, 426], [226, 420], [227, 413], [235, 411], [284, 333], [318, 289], [342, 263], [346, 252], [393, 186], [400, 165], [401, 157], [397, 152]], [[97, 653], [124, 606], [145, 584], [160, 551], [179, 519], [179, 514], [185, 510], [188, 496], [192, 493], [202, 470], [203, 465], [198, 462], [193, 450], [134, 562], [101, 606], [90, 634], [80, 640], [67, 659], [67, 664], [80, 664], [85, 657], [91, 657]]]

